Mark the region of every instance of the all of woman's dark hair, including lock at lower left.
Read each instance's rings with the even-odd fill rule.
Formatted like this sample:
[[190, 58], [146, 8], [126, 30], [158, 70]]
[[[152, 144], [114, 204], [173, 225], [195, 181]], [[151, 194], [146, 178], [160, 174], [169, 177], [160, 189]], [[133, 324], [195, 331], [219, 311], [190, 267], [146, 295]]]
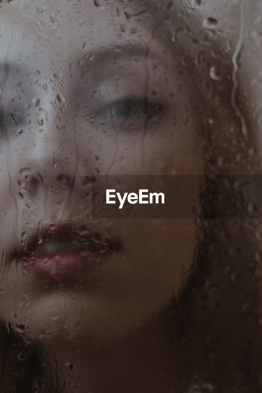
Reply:
[[[259, 392], [260, 220], [249, 210], [250, 193], [245, 187], [236, 188], [236, 179], [228, 176], [260, 173], [255, 130], [240, 108], [234, 65], [225, 50], [218, 48], [214, 32], [205, 31], [195, 13], [190, 15], [181, 5], [178, 12], [172, 2], [139, 4], [157, 21], [153, 33], [168, 45], [179, 46], [181, 66], [194, 74], [199, 123], [206, 140], [195, 260], [185, 288], [165, 310], [173, 333], [170, 347], [176, 354], [169, 356], [179, 370], [183, 392]], [[185, 48], [185, 42], [192, 45]], [[210, 78], [211, 67], [219, 70], [221, 79]], [[1, 391], [52, 390], [48, 385], [51, 371], [29, 338], [30, 332], [22, 328], [18, 332], [9, 325], [8, 334], [4, 329]]]

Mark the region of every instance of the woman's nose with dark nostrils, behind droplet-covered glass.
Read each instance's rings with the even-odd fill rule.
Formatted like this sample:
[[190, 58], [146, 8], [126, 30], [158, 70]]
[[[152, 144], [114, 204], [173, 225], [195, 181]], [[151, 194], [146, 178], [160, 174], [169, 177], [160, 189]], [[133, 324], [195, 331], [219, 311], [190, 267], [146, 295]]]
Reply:
[[49, 197], [62, 197], [73, 189], [78, 193], [89, 170], [78, 156], [73, 121], [49, 106], [46, 116], [37, 119], [36, 124], [39, 123], [41, 129], [34, 130], [33, 144], [27, 147], [23, 158], [24, 168], [19, 169], [20, 175], [25, 175], [27, 192], [35, 198], [39, 197], [41, 188]]

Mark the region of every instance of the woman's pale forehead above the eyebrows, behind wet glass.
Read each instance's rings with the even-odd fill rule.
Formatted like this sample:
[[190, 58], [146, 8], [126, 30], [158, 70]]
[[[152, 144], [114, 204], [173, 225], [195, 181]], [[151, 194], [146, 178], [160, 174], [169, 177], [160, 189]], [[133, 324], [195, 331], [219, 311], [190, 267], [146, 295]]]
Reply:
[[41, 45], [48, 50], [52, 47], [57, 55], [59, 50], [102, 51], [122, 42], [149, 42], [152, 18], [146, 8], [136, 11], [114, 0], [58, 0], [41, 4], [34, 0], [12, 1], [1, 7], [2, 52], [12, 38], [21, 50], [30, 48], [31, 54]]

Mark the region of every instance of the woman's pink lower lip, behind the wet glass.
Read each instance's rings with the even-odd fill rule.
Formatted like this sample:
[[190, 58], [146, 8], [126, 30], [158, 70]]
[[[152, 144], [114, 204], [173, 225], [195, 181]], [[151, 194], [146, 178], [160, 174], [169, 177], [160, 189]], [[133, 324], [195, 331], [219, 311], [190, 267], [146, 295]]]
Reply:
[[27, 259], [24, 267], [42, 276], [76, 277], [96, 269], [106, 257], [91, 251], [43, 254]]

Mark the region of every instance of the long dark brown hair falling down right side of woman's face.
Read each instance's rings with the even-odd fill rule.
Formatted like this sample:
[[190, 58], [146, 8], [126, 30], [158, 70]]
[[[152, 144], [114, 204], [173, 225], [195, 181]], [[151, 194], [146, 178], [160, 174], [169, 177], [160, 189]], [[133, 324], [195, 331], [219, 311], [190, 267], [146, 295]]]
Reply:
[[[195, 15], [192, 19], [191, 25], [197, 22]], [[206, 181], [197, 257], [177, 302], [179, 361], [185, 391], [255, 393], [261, 391], [261, 222], [250, 210], [250, 189], [241, 183], [253, 184], [258, 194], [253, 175], [260, 173], [260, 156], [255, 129], [240, 107], [240, 88], [235, 90], [234, 64], [213, 33], [207, 53], [204, 30], [198, 29], [197, 50], [193, 46], [186, 53], [204, 103]], [[183, 30], [186, 40], [183, 35], [190, 42], [190, 29]], [[209, 76], [214, 64], [221, 80]]]

